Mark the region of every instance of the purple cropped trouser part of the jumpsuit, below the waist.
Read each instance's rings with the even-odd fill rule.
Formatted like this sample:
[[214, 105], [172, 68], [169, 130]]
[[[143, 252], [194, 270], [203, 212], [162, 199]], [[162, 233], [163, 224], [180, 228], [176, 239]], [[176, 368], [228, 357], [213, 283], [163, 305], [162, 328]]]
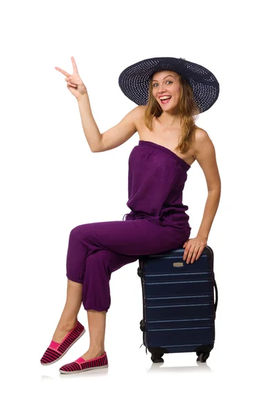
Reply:
[[82, 224], [69, 234], [66, 277], [81, 283], [84, 309], [108, 311], [112, 272], [139, 259], [180, 248], [190, 227], [162, 227], [147, 218]]

